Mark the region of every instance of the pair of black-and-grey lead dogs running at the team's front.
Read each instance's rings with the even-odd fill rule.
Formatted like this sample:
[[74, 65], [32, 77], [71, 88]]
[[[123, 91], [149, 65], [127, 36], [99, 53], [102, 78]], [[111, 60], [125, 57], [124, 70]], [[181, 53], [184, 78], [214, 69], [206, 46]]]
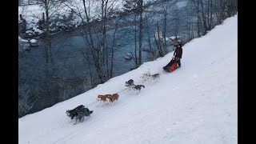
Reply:
[[69, 116], [71, 119], [75, 118], [74, 124], [76, 124], [78, 120], [79, 122], [83, 122], [84, 117], [90, 116], [90, 114], [92, 114], [93, 112], [94, 112], [93, 110], [90, 111], [88, 108], [86, 108], [83, 105], [80, 105], [74, 108], [73, 110], [66, 110], [67, 116]]

